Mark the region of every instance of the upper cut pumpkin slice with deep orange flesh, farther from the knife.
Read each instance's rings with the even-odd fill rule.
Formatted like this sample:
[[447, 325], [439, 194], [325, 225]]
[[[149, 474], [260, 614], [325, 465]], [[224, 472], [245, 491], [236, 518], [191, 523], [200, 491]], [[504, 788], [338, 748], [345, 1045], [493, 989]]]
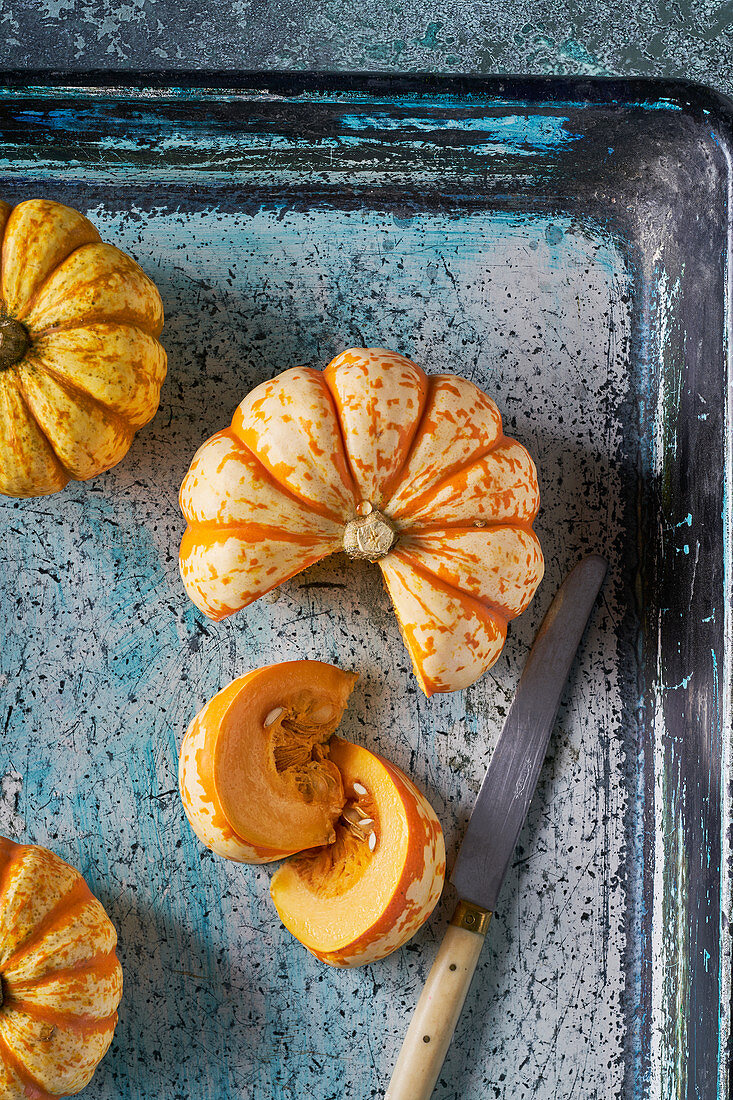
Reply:
[[333, 839], [343, 791], [328, 741], [355, 679], [321, 661], [271, 664], [196, 716], [180, 751], [180, 793], [209, 848], [255, 864]]

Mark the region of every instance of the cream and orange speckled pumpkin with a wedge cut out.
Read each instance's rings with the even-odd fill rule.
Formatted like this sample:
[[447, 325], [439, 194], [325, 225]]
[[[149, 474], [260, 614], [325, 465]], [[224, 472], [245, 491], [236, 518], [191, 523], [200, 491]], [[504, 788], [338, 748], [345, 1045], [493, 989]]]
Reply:
[[535, 465], [493, 400], [382, 349], [258, 386], [180, 505], [183, 581], [212, 619], [335, 551], [379, 562], [427, 695], [494, 663], [544, 571]]

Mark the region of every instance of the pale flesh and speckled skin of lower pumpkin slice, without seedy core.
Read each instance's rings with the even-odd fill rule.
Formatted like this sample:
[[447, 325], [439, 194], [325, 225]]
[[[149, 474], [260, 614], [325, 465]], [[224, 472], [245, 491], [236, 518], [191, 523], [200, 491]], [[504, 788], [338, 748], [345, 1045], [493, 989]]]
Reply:
[[[355, 781], [374, 800], [381, 836], [371, 864], [336, 899], [314, 892], [297, 860], [276, 871], [270, 891], [285, 927], [322, 963], [365, 966], [402, 947], [427, 921], [442, 890], [446, 848], [433, 806], [400, 768], [336, 737], [331, 758], [344, 790]], [[328, 945], [335, 926], [341, 942]]]

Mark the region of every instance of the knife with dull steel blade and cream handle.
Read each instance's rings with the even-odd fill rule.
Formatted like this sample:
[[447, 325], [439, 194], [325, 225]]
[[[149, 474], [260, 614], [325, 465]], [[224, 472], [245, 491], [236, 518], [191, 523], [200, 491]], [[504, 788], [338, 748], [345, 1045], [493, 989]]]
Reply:
[[459, 902], [417, 1002], [385, 1100], [429, 1100], [461, 1014], [608, 563], [583, 558], [550, 604], [450, 877]]

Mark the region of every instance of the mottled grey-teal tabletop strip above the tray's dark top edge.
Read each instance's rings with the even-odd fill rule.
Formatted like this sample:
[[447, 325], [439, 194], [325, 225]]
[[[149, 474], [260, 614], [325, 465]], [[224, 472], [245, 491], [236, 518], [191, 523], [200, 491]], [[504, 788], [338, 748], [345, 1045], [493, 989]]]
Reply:
[[3, 65], [678, 76], [733, 91], [730, 0], [9, 0]]

